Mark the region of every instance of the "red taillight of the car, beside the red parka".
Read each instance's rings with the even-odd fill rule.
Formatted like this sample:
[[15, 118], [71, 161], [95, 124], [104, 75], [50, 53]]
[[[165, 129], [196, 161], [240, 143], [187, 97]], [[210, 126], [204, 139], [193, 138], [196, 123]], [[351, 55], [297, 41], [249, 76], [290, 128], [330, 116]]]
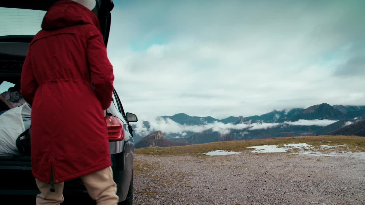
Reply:
[[107, 116], [105, 118], [108, 127], [109, 141], [121, 141], [124, 139], [123, 122], [118, 117]]

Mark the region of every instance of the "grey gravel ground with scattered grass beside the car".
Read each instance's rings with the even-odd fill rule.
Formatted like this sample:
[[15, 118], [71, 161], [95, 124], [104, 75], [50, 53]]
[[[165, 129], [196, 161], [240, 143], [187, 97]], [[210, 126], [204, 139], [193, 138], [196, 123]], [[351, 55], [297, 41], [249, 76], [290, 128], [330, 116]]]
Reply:
[[365, 159], [135, 155], [135, 205], [365, 205]]

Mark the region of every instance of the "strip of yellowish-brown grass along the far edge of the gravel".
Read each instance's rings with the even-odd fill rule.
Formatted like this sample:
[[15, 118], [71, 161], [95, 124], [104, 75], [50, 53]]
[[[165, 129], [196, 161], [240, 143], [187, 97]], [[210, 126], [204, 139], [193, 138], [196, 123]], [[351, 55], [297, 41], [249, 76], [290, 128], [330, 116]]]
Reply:
[[[268, 138], [268, 139], [255, 139], [255, 140], [241, 140], [241, 141], [224, 141], [213, 142], [205, 144], [192, 144], [187, 146], [178, 147], [147, 147], [141, 149], [135, 149], [135, 154], [140, 155], [156, 155], [156, 156], [168, 156], [168, 155], [197, 155], [212, 150], [227, 150], [227, 151], [243, 151], [249, 150], [246, 147], [260, 146], [260, 145], [282, 145], [289, 143], [307, 143], [315, 148], [322, 148], [320, 145], [336, 145], [347, 144], [347, 146], [336, 147], [339, 151], [353, 151], [363, 152], [365, 151], [365, 138], [358, 136], [299, 136], [299, 137], [287, 137], [287, 138]], [[261, 154], [261, 153], [260, 153]], [[200, 158], [212, 158], [215, 156], [197, 155]]]

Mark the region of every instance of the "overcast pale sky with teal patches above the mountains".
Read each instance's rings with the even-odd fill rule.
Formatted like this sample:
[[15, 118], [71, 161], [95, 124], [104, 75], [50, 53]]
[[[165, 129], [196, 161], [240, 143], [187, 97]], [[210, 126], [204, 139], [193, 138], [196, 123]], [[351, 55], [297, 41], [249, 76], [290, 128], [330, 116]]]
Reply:
[[365, 104], [364, 6], [115, 1], [108, 44], [114, 85], [139, 119]]

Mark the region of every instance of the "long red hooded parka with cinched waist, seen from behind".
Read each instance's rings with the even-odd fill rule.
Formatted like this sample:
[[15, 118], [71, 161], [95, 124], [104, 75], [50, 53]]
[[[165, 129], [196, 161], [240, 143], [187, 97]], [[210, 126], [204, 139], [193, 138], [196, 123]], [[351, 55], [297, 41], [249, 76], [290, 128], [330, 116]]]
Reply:
[[73, 1], [55, 3], [34, 36], [21, 91], [32, 106], [35, 178], [54, 183], [111, 165], [103, 109], [112, 101], [113, 69], [96, 15]]

